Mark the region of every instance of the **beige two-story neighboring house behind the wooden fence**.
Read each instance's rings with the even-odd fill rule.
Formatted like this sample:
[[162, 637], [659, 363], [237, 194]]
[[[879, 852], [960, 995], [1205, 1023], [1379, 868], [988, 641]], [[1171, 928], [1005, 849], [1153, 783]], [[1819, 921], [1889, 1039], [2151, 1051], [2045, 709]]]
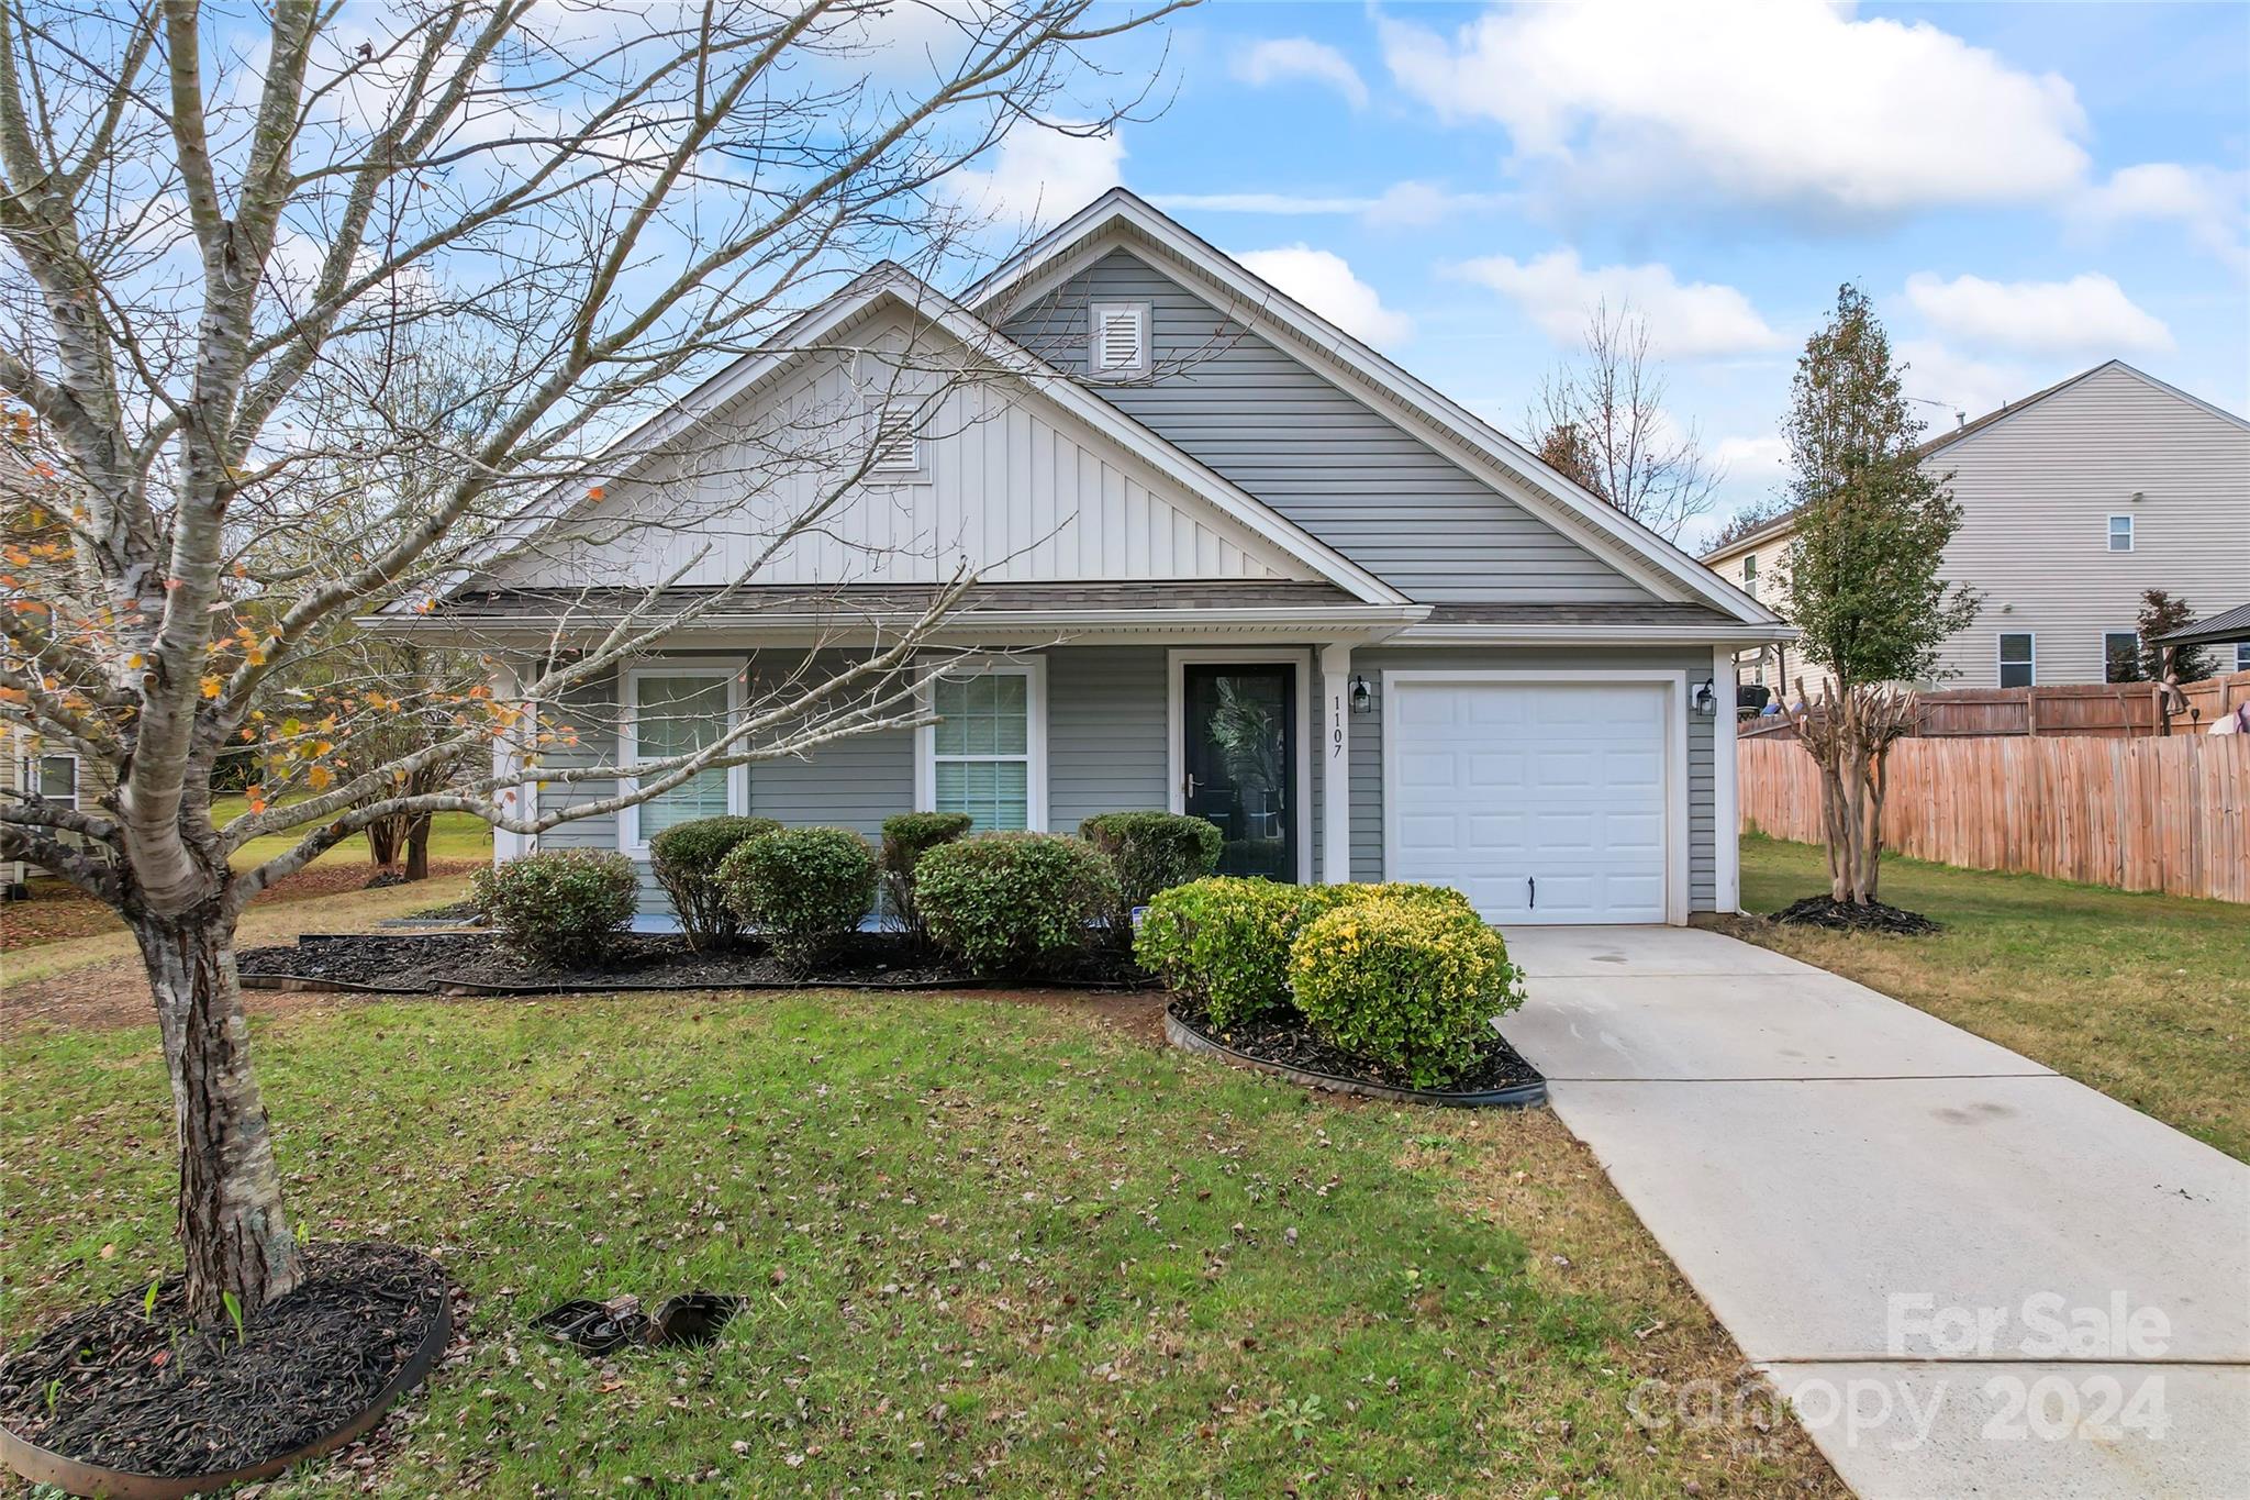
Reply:
[[[2214, 609], [2250, 580], [2250, 423], [2122, 360], [1930, 439], [1922, 459], [1953, 475], [1962, 508], [1944, 578], [1984, 600], [1944, 643], [1942, 686], [2106, 681], [2146, 589]], [[1791, 540], [1782, 515], [1703, 562], [1780, 605]], [[2250, 668], [2250, 650], [2218, 666]], [[1742, 672], [1791, 695], [1825, 681], [1786, 645]]]

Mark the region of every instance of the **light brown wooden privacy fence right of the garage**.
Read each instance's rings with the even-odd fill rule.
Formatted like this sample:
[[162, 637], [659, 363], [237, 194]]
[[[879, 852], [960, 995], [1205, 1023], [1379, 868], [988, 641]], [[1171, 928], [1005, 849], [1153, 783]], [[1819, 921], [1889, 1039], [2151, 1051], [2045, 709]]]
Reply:
[[[1820, 767], [1735, 747], [1742, 825], [1820, 843]], [[1899, 740], [1883, 846], [1973, 870], [2250, 902], [2250, 735]]]

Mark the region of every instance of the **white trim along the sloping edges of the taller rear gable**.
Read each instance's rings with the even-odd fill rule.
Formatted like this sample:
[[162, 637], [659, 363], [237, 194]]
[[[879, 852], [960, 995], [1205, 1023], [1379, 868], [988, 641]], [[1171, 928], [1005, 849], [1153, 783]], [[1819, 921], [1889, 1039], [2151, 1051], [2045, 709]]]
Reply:
[[1487, 481], [1498, 475], [1501, 486], [1494, 488], [1658, 598], [1703, 600], [1735, 621], [1778, 623], [1780, 616], [1672, 542], [1120, 187], [1044, 234], [963, 292], [961, 301], [999, 322], [1118, 243], [1188, 270], [1220, 295], [1231, 317], [1321, 369], [1472, 475]]

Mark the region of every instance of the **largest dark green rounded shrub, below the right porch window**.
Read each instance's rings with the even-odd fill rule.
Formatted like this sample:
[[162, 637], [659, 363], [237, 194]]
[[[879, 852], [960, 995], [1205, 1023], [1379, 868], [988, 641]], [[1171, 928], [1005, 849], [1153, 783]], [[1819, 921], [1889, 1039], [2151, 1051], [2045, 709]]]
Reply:
[[1116, 906], [1102, 852], [1066, 834], [981, 834], [940, 843], [914, 873], [929, 936], [979, 974], [1028, 974], [1087, 947]]

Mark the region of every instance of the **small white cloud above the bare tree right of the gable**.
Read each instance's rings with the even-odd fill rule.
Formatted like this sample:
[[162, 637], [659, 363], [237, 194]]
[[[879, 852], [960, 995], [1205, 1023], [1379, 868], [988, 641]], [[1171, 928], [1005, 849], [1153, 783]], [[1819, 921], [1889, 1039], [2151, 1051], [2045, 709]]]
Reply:
[[1685, 360], [1782, 346], [1782, 335], [1748, 297], [1710, 281], [1681, 283], [1670, 265], [1586, 268], [1575, 250], [1552, 250], [1534, 261], [1485, 256], [1460, 265], [1460, 274], [1512, 299], [1557, 344], [1584, 333], [1595, 304], [1609, 304], [1611, 313], [1631, 304], [1649, 319], [1658, 355]]

